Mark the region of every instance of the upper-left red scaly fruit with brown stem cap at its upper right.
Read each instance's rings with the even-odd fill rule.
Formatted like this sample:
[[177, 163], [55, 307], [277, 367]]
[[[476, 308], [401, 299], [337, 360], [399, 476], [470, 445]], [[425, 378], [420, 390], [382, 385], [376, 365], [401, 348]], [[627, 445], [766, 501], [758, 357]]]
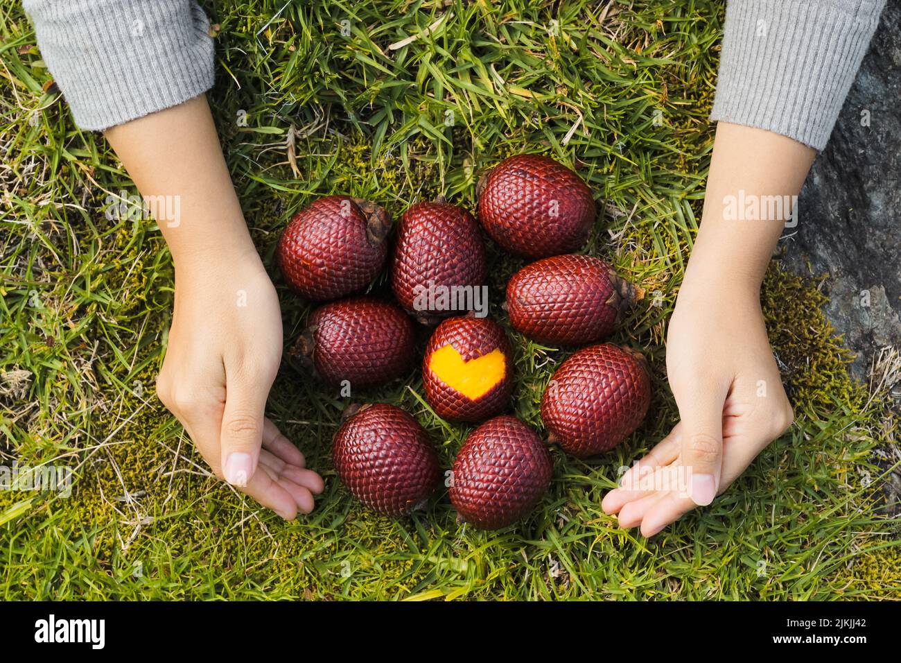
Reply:
[[385, 263], [391, 219], [359, 198], [326, 196], [298, 212], [278, 240], [278, 267], [299, 295], [313, 301], [362, 290]]

